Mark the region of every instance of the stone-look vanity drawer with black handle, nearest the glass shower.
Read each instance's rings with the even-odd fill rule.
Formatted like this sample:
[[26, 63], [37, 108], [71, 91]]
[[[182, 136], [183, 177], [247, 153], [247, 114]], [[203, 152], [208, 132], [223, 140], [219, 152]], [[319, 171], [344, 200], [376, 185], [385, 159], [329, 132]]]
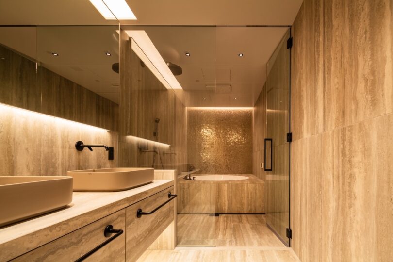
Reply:
[[137, 217], [139, 209], [144, 213], [151, 212], [173, 198], [168, 196], [169, 193], [174, 194], [173, 186], [126, 208], [126, 261], [136, 261], [173, 221], [176, 198], [152, 214]]

